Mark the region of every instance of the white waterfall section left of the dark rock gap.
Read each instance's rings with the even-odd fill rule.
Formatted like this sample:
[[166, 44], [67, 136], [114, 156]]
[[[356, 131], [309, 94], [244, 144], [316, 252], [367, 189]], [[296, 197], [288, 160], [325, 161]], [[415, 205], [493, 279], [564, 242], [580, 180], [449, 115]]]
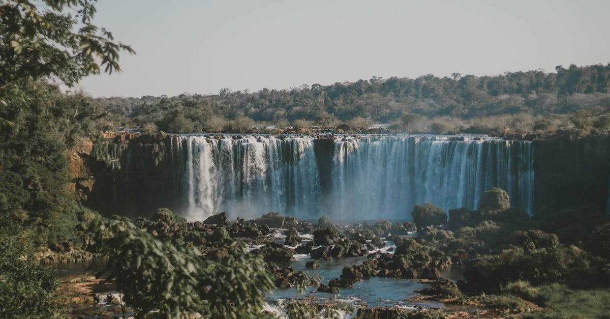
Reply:
[[187, 216], [227, 211], [254, 218], [270, 210], [303, 216], [319, 210], [313, 138], [177, 136], [185, 153]]

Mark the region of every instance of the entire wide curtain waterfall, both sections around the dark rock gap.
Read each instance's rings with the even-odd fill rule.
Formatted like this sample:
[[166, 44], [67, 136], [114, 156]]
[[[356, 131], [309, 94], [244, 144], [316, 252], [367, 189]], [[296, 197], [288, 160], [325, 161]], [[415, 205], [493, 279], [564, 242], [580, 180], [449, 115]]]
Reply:
[[[314, 144], [325, 142], [332, 148], [314, 152]], [[413, 206], [426, 202], [445, 211], [476, 209], [492, 187], [506, 189], [513, 205], [532, 211], [533, 146], [527, 141], [179, 135], [171, 145], [182, 166], [177, 173], [184, 177], [190, 219], [220, 211], [233, 218], [281, 211], [305, 219], [410, 219]], [[329, 163], [321, 163], [325, 158]]]

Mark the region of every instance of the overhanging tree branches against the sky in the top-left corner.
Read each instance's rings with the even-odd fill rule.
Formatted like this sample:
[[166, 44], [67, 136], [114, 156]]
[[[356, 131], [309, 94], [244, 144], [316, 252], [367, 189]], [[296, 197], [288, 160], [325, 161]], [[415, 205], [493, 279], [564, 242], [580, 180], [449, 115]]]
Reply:
[[[0, 114], [25, 106], [27, 83], [57, 78], [73, 86], [91, 74], [121, 71], [112, 33], [91, 23], [96, 0], [0, 0]], [[0, 118], [0, 129], [12, 123]]]

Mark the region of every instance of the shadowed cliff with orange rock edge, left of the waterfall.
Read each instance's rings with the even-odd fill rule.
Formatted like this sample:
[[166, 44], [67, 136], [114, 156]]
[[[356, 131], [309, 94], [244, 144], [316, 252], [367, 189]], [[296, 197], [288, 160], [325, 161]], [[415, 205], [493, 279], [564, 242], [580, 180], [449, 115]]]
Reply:
[[77, 198], [104, 215], [148, 216], [178, 209], [166, 134], [104, 133], [80, 141], [68, 154]]

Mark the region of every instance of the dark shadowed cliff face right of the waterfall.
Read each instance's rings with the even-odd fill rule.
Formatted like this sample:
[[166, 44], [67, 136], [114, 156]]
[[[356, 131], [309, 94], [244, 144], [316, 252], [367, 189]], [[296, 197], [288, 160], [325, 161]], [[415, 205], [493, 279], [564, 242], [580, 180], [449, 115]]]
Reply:
[[610, 137], [534, 142], [535, 211], [595, 205], [606, 210], [610, 183]]

